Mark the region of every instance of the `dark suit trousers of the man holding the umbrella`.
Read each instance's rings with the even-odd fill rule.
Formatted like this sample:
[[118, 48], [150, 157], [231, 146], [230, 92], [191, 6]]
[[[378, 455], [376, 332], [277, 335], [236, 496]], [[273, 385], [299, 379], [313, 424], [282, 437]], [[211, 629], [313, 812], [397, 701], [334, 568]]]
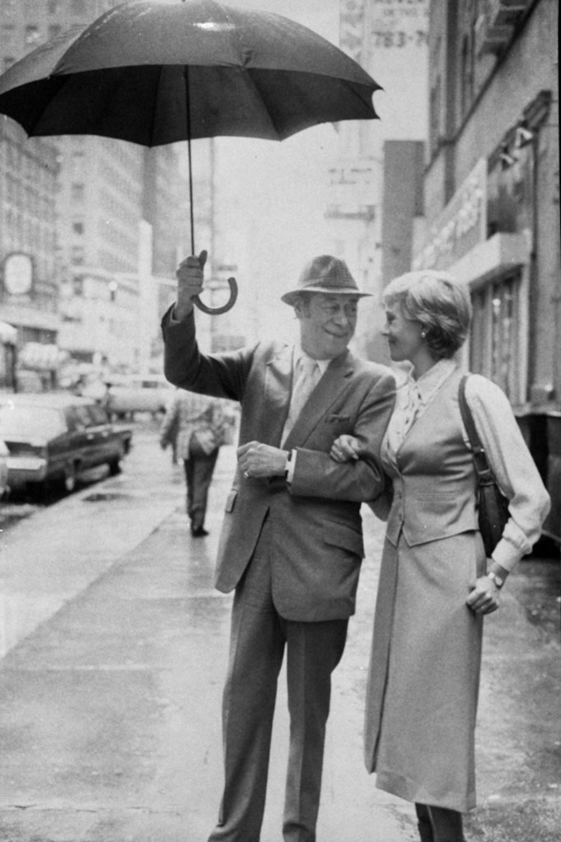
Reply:
[[225, 788], [209, 842], [259, 842], [285, 647], [290, 744], [283, 839], [315, 842], [331, 672], [345, 647], [348, 619], [297, 622], [279, 616], [272, 595], [270, 530], [265, 520], [232, 608], [222, 711]]

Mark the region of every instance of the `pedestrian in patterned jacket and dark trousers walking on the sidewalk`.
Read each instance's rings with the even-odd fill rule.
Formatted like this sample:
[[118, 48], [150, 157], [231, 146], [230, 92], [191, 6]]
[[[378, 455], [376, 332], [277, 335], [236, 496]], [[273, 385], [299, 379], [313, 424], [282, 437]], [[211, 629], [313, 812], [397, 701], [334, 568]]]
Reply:
[[183, 461], [187, 486], [187, 514], [191, 535], [209, 535], [204, 528], [210, 482], [224, 444], [227, 422], [220, 401], [177, 389], [161, 425], [160, 445], [172, 443]]

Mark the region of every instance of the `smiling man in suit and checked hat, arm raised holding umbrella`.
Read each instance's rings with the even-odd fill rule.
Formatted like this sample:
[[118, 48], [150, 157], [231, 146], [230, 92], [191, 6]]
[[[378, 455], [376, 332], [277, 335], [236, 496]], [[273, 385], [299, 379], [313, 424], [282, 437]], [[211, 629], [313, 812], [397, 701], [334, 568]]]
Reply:
[[[238, 466], [225, 505], [216, 587], [236, 589], [223, 701], [225, 788], [209, 842], [258, 842], [278, 672], [287, 649], [290, 746], [285, 842], [314, 842], [331, 672], [345, 647], [363, 559], [360, 504], [384, 487], [379, 445], [394, 378], [347, 349], [361, 292], [347, 265], [315, 258], [283, 301], [300, 343], [201, 354], [193, 297], [206, 253], [177, 269], [163, 318], [167, 379], [241, 403]], [[342, 433], [360, 461], [329, 451]]]

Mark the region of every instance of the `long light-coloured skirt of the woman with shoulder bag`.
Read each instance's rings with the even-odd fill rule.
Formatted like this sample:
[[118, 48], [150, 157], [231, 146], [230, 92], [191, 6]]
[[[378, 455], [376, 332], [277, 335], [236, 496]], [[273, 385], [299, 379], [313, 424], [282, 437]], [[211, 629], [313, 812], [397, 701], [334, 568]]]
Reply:
[[475, 806], [474, 728], [483, 621], [466, 605], [479, 533], [384, 544], [365, 718], [376, 786], [410, 802]]

